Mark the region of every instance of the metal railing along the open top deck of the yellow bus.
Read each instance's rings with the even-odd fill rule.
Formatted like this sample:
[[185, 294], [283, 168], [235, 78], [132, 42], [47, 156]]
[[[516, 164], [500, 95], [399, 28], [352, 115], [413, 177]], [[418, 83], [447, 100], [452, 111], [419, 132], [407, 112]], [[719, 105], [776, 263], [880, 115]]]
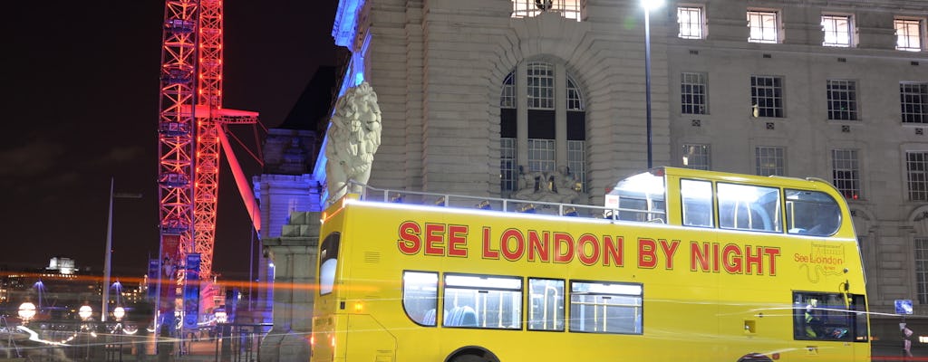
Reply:
[[[476, 208], [483, 210], [525, 214], [556, 215], [576, 218], [606, 218], [666, 222], [664, 211], [590, 206], [549, 201], [521, 200], [499, 197], [470, 196], [454, 193], [427, 193], [419, 191], [380, 189], [364, 183], [350, 181], [360, 187], [360, 198], [366, 201], [401, 203], [407, 205]], [[628, 215], [634, 218], [623, 218]], [[639, 219], [640, 218], [640, 219]]]

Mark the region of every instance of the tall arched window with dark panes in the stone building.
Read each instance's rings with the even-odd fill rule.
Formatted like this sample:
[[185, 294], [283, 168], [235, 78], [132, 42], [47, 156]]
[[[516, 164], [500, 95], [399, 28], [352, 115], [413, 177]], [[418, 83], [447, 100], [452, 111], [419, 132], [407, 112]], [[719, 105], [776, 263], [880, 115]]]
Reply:
[[586, 108], [574, 77], [562, 64], [533, 60], [513, 69], [502, 88], [502, 195], [518, 190], [520, 167], [522, 172], [553, 172], [566, 166], [586, 190]]

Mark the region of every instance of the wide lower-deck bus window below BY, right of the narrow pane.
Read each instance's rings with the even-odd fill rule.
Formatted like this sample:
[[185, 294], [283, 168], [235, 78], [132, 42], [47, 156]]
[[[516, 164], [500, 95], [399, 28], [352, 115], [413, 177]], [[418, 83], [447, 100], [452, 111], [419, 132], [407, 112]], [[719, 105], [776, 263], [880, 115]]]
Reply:
[[641, 284], [571, 282], [571, 331], [641, 334]]

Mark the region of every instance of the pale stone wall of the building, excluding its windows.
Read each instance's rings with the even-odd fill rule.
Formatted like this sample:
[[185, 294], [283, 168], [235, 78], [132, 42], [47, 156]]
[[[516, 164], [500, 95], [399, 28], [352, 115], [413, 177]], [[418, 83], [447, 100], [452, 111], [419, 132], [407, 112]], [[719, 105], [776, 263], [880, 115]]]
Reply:
[[[913, 225], [925, 205], [907, 200], [905, 152], [928, 150], [928, 135], [916, 132], [928, 127], [901, 124], [898, 83], [928, 81], [928, 56], [896, 51], [892, 20], [928, 18], [928, 6], [916, 0], [702, 3], [704, 40], [677, 39], [675, 1], [651, 16], [654, 165], [681, 166], [682, 144], [699, 143], [712, 145], [713, 169], [754, 173], [754, 146], [773, 145], [785, 147], [788, 175], [831, 180], [831, 149], [858, 149], [863, 197], [850, 206], [867, 242], [870, 305], [891, 312], [895, 299], [917, 302], [912, 240], [928, 233]], [[747, 43], [747, 6], [781, 10], [782, 44]], [[588, 0], [580, 22], [551, 14], [510, 19], [510, 10], [505, 0], [367, 0], [354, 50], [369, 41], [366, 79], [380, 97], [384, 124], [371, 185], [498, 194], [501, 84], [517, 64], [537, 56], [566, 64], [586, 97], [591, 203], [599, 204], [618, 178], [646, 167], [638, 1]], [[854, 15], [857, 47], [821, 46], [823, 11]], [[680, 114], [682, 71], [708, 74], [709, 114]], [[751, 75], [783, 77], [784, 118], [751, 117]], [[860, 120], [827, 119], [828, 79], [857, 81]], [[916, 311], [928, 315], [928, 306]]]

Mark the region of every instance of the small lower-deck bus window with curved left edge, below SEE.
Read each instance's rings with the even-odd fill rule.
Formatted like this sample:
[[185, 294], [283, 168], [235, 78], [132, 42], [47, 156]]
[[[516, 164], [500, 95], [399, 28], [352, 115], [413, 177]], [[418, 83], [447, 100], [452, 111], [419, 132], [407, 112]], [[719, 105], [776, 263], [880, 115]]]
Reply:
[[[434, 327], [438, 312], [438, 273], [403, 272], [403, 309], [417, 324]], [[444, 313], [443, 313], [444, 314]]]

